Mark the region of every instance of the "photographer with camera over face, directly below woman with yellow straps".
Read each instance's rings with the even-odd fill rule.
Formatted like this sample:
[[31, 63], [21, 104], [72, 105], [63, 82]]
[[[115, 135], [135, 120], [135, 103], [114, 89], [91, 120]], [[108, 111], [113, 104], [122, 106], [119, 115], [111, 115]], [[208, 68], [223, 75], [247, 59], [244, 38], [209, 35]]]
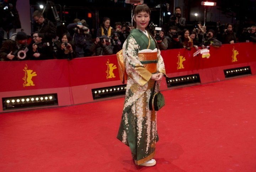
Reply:
[[93, 56], [99, 55], [111, 55], [113, 54], [113, 46], [108, 41], [108, 37], [103, 35], [102, 37], [96, 38], [94, 44], [92, 44], [90, 50]]

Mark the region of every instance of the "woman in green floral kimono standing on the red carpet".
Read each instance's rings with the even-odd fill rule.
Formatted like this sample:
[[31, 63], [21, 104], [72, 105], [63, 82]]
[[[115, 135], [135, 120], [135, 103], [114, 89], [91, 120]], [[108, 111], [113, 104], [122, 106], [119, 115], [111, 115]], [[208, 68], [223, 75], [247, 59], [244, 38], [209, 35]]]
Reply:
[[[166, 73], [158, 45], [146, 29], [150, 20], [149, 7], [139, 4], [133, 11], [136, 29], [130, 32], [120, 51], [126, 72], [122, 71], [119, 62], [119, 74], [123, 72], [121, 78], [125, 78], [127, 73], [128, 77], [117, 138], [130, 147], [136, 165], [154, 166], [155, 145], [159, 138], [156, 111], [149, 110], [149, 99], [154, 82], [159, 85]], [[155, 91], [158, 90], [157, 86]]]

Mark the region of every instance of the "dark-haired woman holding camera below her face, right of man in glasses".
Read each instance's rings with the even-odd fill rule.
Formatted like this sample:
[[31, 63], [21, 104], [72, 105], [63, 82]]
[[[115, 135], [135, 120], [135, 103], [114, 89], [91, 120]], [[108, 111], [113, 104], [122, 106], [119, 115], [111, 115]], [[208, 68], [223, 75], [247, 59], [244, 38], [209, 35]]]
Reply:
[[73, 59], [75, 58], [75, 45], [72, 38], [67, 33], [62, 35], [62, 41], [57, 44], [57, 59]]

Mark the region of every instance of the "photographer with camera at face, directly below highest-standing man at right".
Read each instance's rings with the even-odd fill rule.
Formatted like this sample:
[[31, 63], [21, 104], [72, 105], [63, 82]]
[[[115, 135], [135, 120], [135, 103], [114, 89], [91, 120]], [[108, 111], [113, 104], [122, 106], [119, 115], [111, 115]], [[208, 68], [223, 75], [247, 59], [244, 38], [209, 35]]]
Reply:
[[183, 44], [180, 38], [180, 35], [177, 32], [177, 28], [175, 26], [171, 26], [167, 33], [167, 49], [180, 49], [183, 48]]

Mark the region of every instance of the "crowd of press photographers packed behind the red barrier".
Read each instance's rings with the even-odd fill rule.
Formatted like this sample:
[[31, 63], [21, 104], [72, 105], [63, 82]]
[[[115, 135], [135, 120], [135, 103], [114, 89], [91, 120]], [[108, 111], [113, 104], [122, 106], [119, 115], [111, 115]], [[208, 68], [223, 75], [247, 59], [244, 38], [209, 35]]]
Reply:
[[[85, 20], [78, 18], [66, 27], [55, 26], [52, 21], [44, 18], [40, 11], [34, 11], [32, 18], [36, 26], [31, 35], [23, 31], [11, 34], [10, 30], [0, 26], [1, 61], [71, 60], [77, 57], [116, 54], [122, 49], [130, 30], [134, 29], [129, 22], [116, 22], [112, 28], [108, 17], [103, 18], [98, 29], [90, 28]], [[181, 15], [181, 8], [176, 7], [166, 27], [158, 27], [151, 22], [148, 31], [154, 35], [160, 50], [191, 50], [192, 47], [198, 49], [238, 42], [256, 42], [256, 26], [244, 28], [238, 36], [234, 32], [233, 24], [217, 23], [216, 27], [210, 29], [201, 22], [196, 22], [193, 28], [187, 27], [186, 18]], [[9, 36], [6, 36], [8, 34]]]

